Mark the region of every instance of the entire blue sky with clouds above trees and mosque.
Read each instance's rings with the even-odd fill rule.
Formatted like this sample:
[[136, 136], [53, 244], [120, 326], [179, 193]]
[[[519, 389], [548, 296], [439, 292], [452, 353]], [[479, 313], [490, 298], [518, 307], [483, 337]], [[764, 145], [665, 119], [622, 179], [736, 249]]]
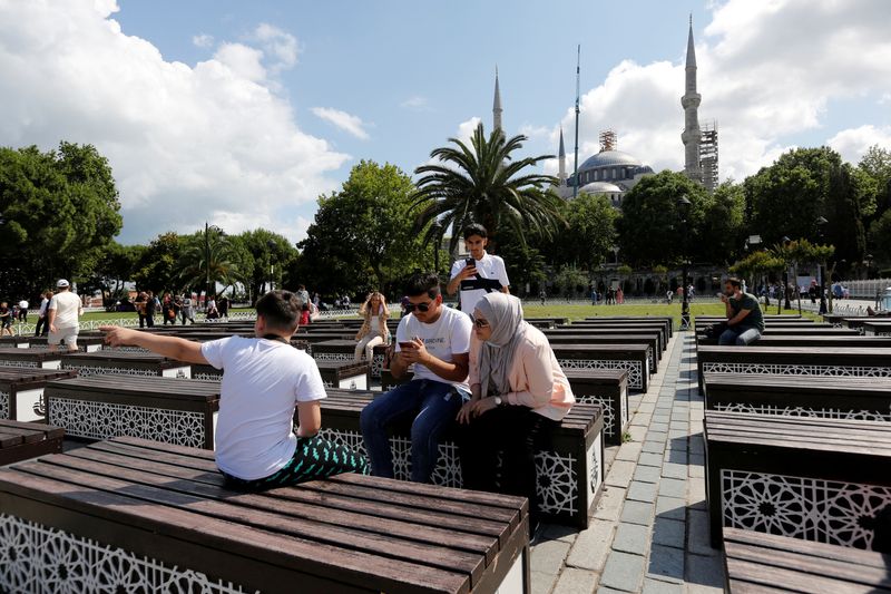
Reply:
[[691, 16], [722, 179], [891, 148], [887, 0], [0, 0], [0, 145], [95, 145], [125, 244], [205, 221], [296, 242], [361, 159], [411, 174], [490, 129], [496, 68], [523, 153], [556, 154], [561, 126], [571, 153], [580, 45], [579, 163], [611, 128], [679, 171]]

